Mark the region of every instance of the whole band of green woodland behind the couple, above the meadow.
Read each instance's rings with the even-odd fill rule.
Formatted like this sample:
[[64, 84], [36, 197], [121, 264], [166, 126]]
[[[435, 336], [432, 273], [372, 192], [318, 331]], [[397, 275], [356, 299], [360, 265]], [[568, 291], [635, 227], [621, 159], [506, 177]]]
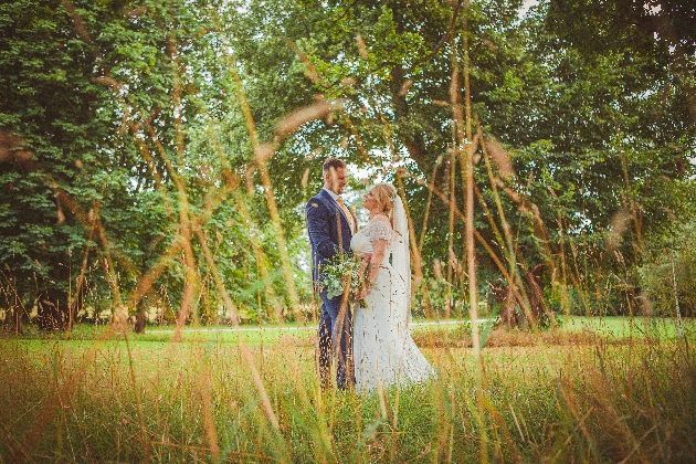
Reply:
[[696, 7], [526, 7], [2, 2], [6, 330], [310, 318], [329, 156], [407, 200], [416, 316], [472, 298], [467, 155], [488, 314], [694, 315]]

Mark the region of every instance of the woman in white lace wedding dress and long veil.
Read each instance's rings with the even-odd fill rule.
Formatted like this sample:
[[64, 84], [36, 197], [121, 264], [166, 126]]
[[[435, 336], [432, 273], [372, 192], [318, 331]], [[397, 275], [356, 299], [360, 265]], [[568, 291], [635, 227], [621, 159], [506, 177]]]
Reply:
[[354, 315], [356, 390], [423, 382], [435, 371], [409, 330], [411, 265], [403, 203], [392, 184], [378, 183], [365, 194], [362, 205], [370, 222], [350, 241], [367, 264], [367, 282], [356, 294], [367, 305], [357, 305]]

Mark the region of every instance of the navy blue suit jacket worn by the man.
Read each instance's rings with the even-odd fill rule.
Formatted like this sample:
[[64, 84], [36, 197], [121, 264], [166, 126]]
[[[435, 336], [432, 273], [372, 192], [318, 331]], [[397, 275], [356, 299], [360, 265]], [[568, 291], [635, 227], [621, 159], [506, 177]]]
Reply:
[[[319, 266], [334, 257], [339, 250], [350, 253], [350, 224], [340, 208], [324, 189], [305, 207], [309, 243], [312, 243], [312, 277], [319, 282]], [[356, 219], [354, 218], [354, 221]], [[356, 221], [357, 223], [357, 221]]]

